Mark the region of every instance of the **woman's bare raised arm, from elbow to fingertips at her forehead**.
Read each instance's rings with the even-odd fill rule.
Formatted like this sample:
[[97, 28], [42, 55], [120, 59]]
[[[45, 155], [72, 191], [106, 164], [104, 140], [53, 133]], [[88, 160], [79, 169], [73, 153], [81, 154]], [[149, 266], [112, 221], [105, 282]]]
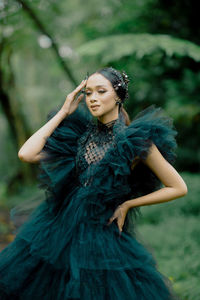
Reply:
[[83, 80], [81, 84], [72, 91], [67, 97], [62, 108], [57, 114], [51, 118], [44, 126], [37, 130], [19, 149], [18, 157], [21, 161], [29, 163], [37, 163], [44, 154], [41, 153], [46, 139], [53, 133], [56, 127], [65, 119], [68, 115], [72, 114], [78, 104], [83, 99], [83, 95], [80, 95], [76, 100], [75, 97], [86, 85], [86, 80]]

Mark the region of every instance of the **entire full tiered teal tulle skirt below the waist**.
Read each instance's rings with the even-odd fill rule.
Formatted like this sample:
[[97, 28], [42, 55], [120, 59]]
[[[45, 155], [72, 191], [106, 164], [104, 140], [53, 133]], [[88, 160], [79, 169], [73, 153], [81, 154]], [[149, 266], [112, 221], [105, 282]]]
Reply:
[[44, 202], [1, 252], [1, 299], [176, 299], [143, 245], [88, 220], [78, 196], [58, 216]]

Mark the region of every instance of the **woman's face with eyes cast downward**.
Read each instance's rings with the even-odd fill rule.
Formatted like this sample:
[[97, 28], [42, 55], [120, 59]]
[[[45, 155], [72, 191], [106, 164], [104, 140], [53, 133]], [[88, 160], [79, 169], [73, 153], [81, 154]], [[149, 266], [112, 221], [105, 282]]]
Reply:
[[116, 105], [117, 94], [109, 80], [99, 73], [91, 75], [85, 87], [86, 104], [91, 114], [96, 117], [109, 118], [118, 117], [118, 105]]

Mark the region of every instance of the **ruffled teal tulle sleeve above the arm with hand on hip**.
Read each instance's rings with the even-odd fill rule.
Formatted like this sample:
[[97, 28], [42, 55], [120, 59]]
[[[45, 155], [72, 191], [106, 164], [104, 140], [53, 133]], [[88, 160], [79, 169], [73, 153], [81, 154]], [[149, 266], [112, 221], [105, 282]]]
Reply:
[[139, 163], [130, 176], [134, 196], [145, 195], [162, 186], [157, 176], [141, 160], [145, 160], [154, 143], [163, 157], [174, 164], [176, 159], [177, 131], [173, 119], [161, 107], [151, 105], [141, 111], [126, 128], [125, 156], [132, 163], [138, 157]]

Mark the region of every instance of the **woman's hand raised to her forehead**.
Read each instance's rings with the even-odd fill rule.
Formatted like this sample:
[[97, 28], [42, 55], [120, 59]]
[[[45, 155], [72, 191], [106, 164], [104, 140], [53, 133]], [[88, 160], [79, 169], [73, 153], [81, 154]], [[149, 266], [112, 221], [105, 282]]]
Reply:
[[82, 82], [73, 90], [67, 97], [66, 100], [61, 107], [61, 111], [63, 111], [66, 115], [72, 114], [78, 107], [80, 101], [83, 99], [84, 95], [81, 94], [77, 99], [77, 94], [86, 86], [87, 79], [82, 80]]

